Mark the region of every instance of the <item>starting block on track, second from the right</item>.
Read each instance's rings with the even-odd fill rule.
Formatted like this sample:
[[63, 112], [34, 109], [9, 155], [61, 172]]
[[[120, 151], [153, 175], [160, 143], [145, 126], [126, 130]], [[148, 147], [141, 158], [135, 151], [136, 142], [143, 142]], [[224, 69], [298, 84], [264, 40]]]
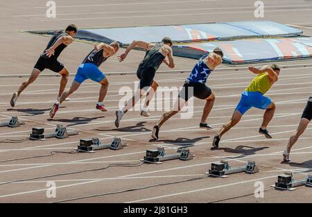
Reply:
[[211, 164], [211, 169], [209, 169], [208, 174], [209, 176], [215, 176], [215, 177], [228, 177], [229, 174], [233, 173], [258, 173], [259, 168], [257, 168], [256, 163], [252, 161], [248, 161], [245, 166], [237, 166], [231, 168], [229, 166], [229, 163], [227, 161], [220, 161], [216, 163]]

